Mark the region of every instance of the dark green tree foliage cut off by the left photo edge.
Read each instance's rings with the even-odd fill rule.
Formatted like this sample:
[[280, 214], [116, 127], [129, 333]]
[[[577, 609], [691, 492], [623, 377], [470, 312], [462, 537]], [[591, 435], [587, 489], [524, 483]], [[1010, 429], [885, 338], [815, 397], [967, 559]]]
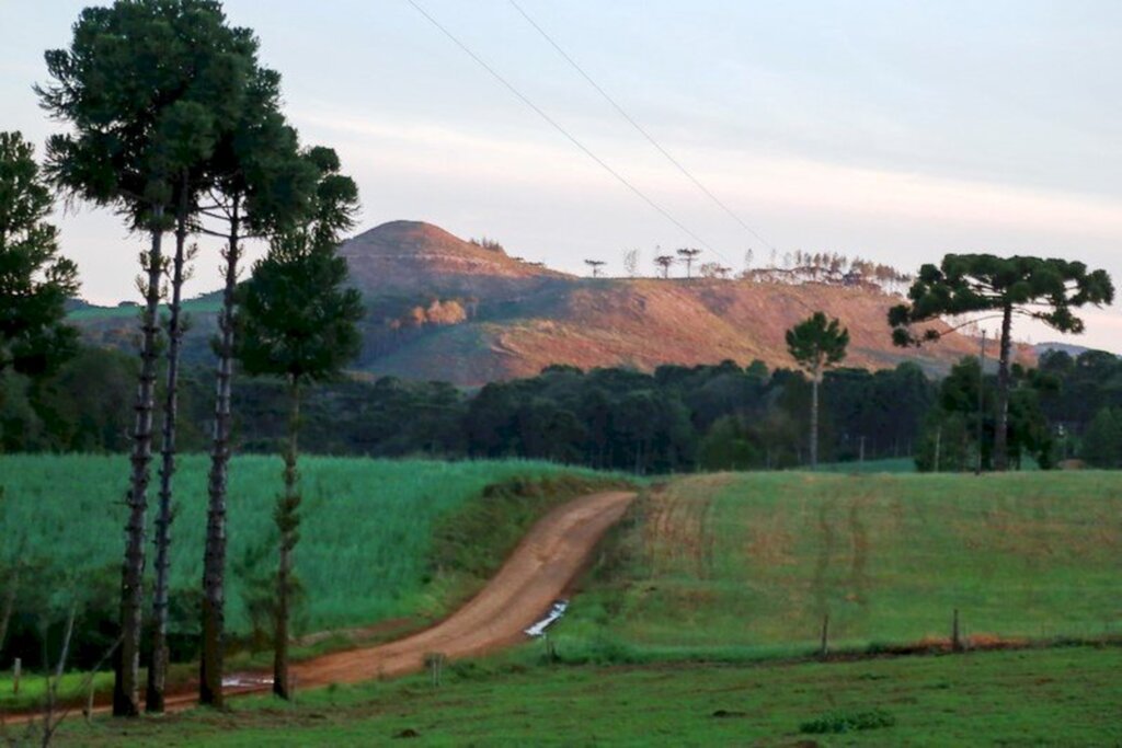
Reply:
[[0, 132], [0, 373], [42, 375], [75, 351], [65, 302], [77, 293], [77, 268], [58, 256], [46, 223], [50, 191], [31, 144]]

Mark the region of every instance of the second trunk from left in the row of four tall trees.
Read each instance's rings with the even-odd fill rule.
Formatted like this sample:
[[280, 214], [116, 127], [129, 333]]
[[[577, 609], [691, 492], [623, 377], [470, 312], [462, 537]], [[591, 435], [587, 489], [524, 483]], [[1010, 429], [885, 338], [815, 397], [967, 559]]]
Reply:
[[148, 691], [145, 711], [164, 712], [164, 683], [167, 676], [167, 585], [168, 548], [172, 544], [172, 475], [175, 474], [175, 425], [180, 390], [180, 322], [183, 296], [183, 265], [187, 243], [187, 177], [180, 184], [180, 206], [175, 225], [175, 258], [172, 264], [172, 303], [167, 320], [167, 386], [164, 393], [164, 433], [159, 468], [159, 507], [156, 510], [156, 582], [153, 589], [151, 659], [148, 662]]

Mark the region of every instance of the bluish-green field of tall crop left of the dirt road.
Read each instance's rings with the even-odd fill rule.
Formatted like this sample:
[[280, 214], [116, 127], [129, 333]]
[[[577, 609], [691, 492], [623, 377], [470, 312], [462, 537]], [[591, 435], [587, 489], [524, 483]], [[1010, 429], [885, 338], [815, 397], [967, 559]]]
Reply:
[[[194, 590], [202, 578], [208, 467], [202, 455], [180, 460], [173, 588]], [[279, 459], [241, 456], [230, 470], [227, 620], [234, 632], [247, 626], [242, 591], [249, 570], [270, 574], [275, 565], [273, 506], [280, 469]], [[304, 458], [301, 473], [304, 523], [296, 566], [307, 595], [300, 621], [305, 631], [443, 613], [462, 591], [432, 578], [436, 523], [462, 510], [485, 486], [516, 475], [562, 473], [601, 480], [591, 471], [534, 462]], [[116, 574], [127, 477], [123, 456], [0, 455], [0, 526], [6, 535], [0, 562], [10, 562], [19, 553], [19, 538], [26, 537], [33, 555], [52, 554], [53, 565], [74, 580], [99, 569]], [[150, 493], [154, 500], [155, 490]], [[484, 565], [502, 562], [505, 544], [516, 542], [536, 514], [533, 507], [507, 514], [507, 532], [491, 538], [504, 547], [490, 547], [485, 537], [477, 550]]]

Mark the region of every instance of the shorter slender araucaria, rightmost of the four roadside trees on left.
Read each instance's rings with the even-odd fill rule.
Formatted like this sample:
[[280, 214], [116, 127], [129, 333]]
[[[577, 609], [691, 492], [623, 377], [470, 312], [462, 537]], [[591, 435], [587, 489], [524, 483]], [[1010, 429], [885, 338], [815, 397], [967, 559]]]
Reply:
[[274, 517], [279, 534], [273, 692], [289, 696], [288, 622], [296, 589], [293, 552], [300, 539], [301, 388], [338, 377], [359, 353], [361, 295], [346, 288], [347, 261], [335, 253], [340, 236], [353, 225], [355, 183], [339, 174], [339, 158], [313, 148], [306, 158], [320, 173], [315, 195], [301, 224], [274, 236], [268, 255], [239, 289], [238, 359], [247, 373], [282, 377], [288, 385], [288, 430], [284, 491]]

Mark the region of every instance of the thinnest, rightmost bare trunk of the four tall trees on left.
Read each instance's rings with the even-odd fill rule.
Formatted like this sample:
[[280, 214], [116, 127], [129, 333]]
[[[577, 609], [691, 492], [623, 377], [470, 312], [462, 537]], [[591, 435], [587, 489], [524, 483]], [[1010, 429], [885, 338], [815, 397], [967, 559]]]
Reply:
[[288, 387], [288, 446], [284, 454], [284, 493], [277, 501], [276, 523], [280, 534], [280, 563], [277, 566], [276, 641], [273, 657], [273, 693], [289, 696], [288, 683], [288, 616], [292, 604], [292, 552], [300, 539], [300, 473], [296, 472], [297, 436], [300, 434], [300, 379], [293, 377]]

